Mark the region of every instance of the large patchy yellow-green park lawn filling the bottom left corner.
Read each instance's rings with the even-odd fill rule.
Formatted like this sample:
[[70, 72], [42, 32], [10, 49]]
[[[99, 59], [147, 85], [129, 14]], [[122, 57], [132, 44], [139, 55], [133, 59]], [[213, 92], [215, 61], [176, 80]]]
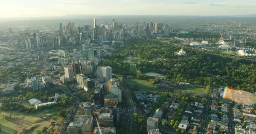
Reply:
[[[11, 113], [11, 119], [3, 119], [4, 116], [8, 116]], [[57, 108], [46, 109], [38, 111], [36, 113], [20, 113], [19, 111], [3, 111], [0, 113], [0, 127], [2, 129], [1, 134], [13, 134], [14, 131], [21, 133], [22, 129], [29, 131], [26, 134], [35, 134], [37, 130], [42, 130], [43, 127], [49, 128], [52, 121], [58, 121], [54, 118], [57, 115]]]

